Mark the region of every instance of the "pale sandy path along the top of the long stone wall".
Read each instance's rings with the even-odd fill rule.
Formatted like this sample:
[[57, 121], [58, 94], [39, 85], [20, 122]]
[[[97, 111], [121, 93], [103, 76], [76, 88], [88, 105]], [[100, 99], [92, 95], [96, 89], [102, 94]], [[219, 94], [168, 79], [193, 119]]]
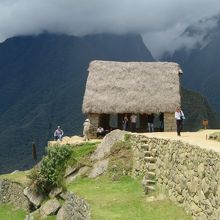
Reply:
[[220, 153], [220, 142], [208, 140], [208, 136], [220, 130], [202, 130], [197, 132], [182, 132], [181, 136], [177, 136], [176, 132], [153, 132], [142, 133], [148, 137], [165, 138], [171, 140], [180, 140], [186, 143], [197, 145], [199, 147], [214, 150]]

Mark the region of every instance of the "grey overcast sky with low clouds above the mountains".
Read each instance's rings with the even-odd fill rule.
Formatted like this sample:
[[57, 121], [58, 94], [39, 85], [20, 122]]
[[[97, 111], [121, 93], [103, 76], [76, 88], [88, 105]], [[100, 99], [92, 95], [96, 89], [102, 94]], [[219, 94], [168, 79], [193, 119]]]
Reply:
[[0, 41], [42, 31], [135, 32], [157, 57], [182, 44], [193, 46], [197, 39], [175, 39], [188, 25], [219, 13], [219, 0], [0, 0]]

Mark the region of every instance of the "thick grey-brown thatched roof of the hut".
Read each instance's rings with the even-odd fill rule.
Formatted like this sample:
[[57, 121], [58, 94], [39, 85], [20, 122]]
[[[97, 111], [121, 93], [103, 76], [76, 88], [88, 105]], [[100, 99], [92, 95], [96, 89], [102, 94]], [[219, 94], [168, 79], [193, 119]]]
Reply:
[[92, 61], [84, 113], [174, 112], [180, 105], [177, 63]]

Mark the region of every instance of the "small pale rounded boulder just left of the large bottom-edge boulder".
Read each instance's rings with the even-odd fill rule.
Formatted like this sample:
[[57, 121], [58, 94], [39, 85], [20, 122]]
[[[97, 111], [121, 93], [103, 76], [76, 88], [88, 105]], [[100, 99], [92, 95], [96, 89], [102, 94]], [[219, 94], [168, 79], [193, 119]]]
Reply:
[[56, 198], [48, 200], [40, 207], [40, 214], [41, 216], [54, 215], [57, 213], [60, 206], [61, 205]]

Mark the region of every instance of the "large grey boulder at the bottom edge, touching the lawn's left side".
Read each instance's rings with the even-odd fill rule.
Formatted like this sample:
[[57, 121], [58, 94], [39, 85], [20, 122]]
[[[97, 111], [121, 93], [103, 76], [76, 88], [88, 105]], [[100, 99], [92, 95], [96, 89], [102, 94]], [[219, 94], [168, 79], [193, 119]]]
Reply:
[[57, 220], [89, 220], [90, 212], [88, 204], [71, 193], [67, 196], [65, 203], [57, 213]]

